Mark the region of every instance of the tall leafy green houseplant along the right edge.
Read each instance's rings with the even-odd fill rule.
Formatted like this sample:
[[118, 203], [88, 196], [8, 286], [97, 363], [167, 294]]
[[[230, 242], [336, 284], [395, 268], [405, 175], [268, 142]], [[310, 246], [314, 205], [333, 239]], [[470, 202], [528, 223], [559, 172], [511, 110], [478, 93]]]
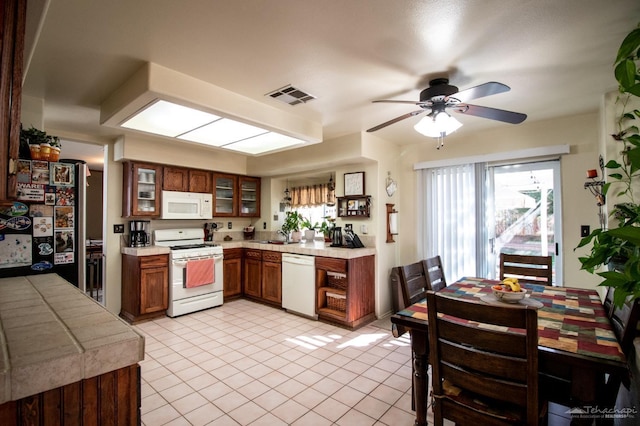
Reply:
[[[640, 111], [633, 108], [640, 99], [640, 27], [623, 40], [615, 61], [615, 77], [620, 94], [617, 104], [621, 113], [616, 119], [613, 143], [619, 145], [622, 158], [609, 160], [610, 172], [602, 188], [603, 195], [616, 197], [610, 217], [614, 226], [596, 229], [580, 241], [578, 247], [590, 246], [587, 256], [580, 257], [582, 269], [604, 278], [601, 286], [614, 288], [614, 303], [622, 306], [629, 298], [640, 297], [640, 205], [634, 190], [640, 182], [640, 132], [635, 124]], [[607, 265], [609, 270], [596, 272]]]

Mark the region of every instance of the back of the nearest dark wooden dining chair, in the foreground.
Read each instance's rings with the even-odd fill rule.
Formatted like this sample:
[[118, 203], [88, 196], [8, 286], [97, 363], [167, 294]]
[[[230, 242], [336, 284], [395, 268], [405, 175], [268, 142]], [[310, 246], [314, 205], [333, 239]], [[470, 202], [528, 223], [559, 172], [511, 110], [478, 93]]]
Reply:
[[427, 312], [434, 424], [538, 424], [536, 310], [428, 291]]

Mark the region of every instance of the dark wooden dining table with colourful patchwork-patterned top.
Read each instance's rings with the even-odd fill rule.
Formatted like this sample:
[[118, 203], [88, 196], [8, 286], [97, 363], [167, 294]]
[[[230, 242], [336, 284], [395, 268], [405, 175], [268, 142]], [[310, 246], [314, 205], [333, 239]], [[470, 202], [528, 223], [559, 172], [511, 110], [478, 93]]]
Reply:
[[[465, 277], [440, 290], [454, 298], [504, 303], [491, 300], [495, 280]], [[569, 393], [556, 401], [599, 410], [613, 407], [616, 395], [605, 390], [605, 375], [618, 375], [627, 383], [629, 371], [618, 340], [595, 290], [523, 286], [527, 298], [522, 303], [538, 308], [538, 368], [542, 378], [552, 378], [549, 391]], [[394, 334], [410, 331], [414, 355], [413, 394], [415, 424], [427, 424], [429, 339], [426, 300], [391, 316]], [[542, 387], [544, 391], [544, 387]], [[566, 391], [565, 391], [566, 389]], [[546, 396], [546, 395], [543, 395]], [[553, 396], [549, 396], [553, 400]], [[574, 405], [578, 407], [578, 405]], [[598, 411], [599, 412], [599, 411]], [[596, 414], [597, 416], [597, 414]], [[605, 422], [606, 423], [606, 422]]]

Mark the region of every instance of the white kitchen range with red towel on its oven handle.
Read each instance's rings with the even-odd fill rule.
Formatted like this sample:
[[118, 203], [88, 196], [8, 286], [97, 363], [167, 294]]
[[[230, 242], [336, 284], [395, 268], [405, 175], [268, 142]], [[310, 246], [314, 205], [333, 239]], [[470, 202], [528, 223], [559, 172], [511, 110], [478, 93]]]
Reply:
[[[155, 245], [170, 247], [169, 308], [167, 315], [175, 317], [222, 305], [224, 270], [220, 245], [204, 242], [204, 229], [162, 229], [154, 231]], [[189, 262], [213, 262], [211, 282], [188, 287]]]

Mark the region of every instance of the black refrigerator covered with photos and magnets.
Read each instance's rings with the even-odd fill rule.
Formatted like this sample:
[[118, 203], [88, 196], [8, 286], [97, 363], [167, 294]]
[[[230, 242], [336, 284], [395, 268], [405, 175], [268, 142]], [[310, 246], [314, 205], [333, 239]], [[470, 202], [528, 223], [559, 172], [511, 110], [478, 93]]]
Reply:
[[84, 289], [82, 161], [18, 160], [18, 198], [0, 207], [0, 277], [57, 273]]

